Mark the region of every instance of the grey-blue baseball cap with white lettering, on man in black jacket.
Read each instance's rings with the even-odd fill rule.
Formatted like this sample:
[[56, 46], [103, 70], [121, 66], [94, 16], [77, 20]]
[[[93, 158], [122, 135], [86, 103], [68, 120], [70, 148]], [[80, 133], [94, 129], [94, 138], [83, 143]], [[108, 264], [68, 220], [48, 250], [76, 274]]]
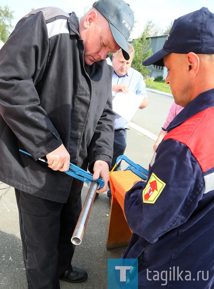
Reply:
[[134, 15], [129, 4], [123, 0], [98, 0], [93, 7], [109, 21], [114, 40], [122, 48], [123, 57], [129, 60], [127, 40], [134, 25]]

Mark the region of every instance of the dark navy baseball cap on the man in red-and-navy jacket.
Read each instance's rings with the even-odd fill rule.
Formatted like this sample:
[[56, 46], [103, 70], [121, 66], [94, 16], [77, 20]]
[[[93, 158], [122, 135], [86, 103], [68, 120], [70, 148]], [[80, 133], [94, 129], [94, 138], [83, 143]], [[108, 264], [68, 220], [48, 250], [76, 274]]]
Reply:
[[164, 66], [164, 57], [170, 53], [214, 54], [214, 14], [208, 8], [191, 12], [174, 20], [164, 46], [142, 62]]

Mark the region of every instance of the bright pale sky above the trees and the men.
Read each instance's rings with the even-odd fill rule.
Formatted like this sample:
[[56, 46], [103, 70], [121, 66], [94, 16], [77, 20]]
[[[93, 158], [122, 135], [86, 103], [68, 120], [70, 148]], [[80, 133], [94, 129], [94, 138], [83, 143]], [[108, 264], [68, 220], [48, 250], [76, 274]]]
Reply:
[[[213, 0], [125, 0], [129, 3], [134, 11], [136, 25], [133, 29], [132, 38], [138, 37], [147, 20], [152, 20], [159, 27], [165, 29], [174, 19], [198, 10], [205, 6], [214, 13]], [[83, 12], [92, 7], [95, 0], [0, 0], [0, 5], [8, 5], [10, 10], [13, 10], [14, 20], [13, 25], [25, 16], [29, 11], [41, 7], [56, 6], [69, 13], [74, 11], [77, 16], [83, 15]], [[88, 10], [87, 9], [87, 10]]]

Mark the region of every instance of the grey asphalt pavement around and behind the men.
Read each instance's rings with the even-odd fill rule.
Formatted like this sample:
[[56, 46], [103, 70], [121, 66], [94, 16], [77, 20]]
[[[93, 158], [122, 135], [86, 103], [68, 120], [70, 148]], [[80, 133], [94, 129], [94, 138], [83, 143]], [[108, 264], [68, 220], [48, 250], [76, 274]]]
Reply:
[[[153, 134], [158, 134], [173, 99], [152, 92], [148, 92], [148, 97], [149, 106], [144, 110], [138, 110], [132, 122]], [[131, 128], [128, 131], [127, 143], [125, 155], [147, 168], [153, 155], [154, 140]], [[87, 192], [88, 187], [84, 186], [83, 201]], [[0, 288], [26, 289], [18, 209], [14, 189], [5, 184], [0, 184], [0, 214]], [[73, 259], [73, 266], [88, 271], [88, 280], [83, 284], [61, 281], [61, 289], [107, 289], [107, 259], [119, 258], [125, 249], [106, 249], [109, 215], [110, 205], [105, 192], [93, 204], [84, 239], [82, 244], [76, 247]]]

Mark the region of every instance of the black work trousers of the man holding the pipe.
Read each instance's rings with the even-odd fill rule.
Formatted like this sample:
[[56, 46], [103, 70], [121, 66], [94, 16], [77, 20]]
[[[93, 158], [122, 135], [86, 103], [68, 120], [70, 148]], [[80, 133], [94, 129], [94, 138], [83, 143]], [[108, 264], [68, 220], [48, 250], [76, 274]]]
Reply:
[[71, 237], [81, 212], [81, 191], [65, 204], [15, 193], [28, 289], [60, 289], [59, 277], [72, 271]]

